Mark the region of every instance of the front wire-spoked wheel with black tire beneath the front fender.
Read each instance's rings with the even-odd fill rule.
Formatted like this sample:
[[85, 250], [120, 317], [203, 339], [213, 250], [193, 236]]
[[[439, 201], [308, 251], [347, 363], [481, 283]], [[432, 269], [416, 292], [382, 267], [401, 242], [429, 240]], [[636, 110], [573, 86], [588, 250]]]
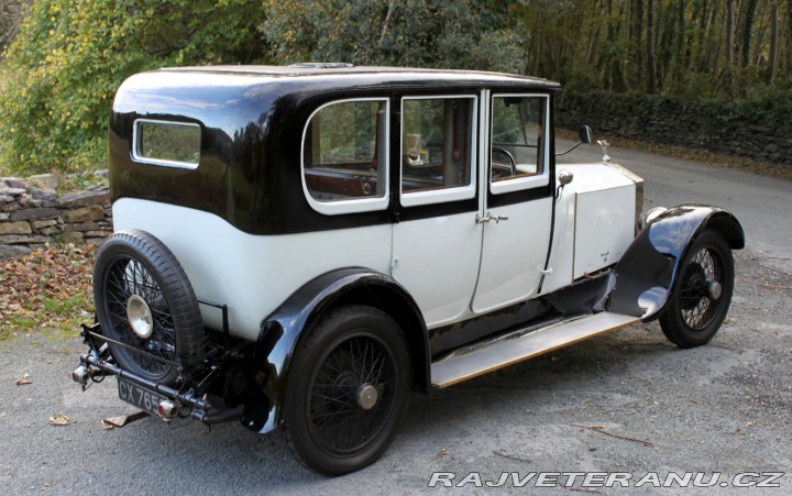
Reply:
[[660, 316], [663, 333], [680, 348], [707, 343], [726, 318], [733, 291], [732, 249], [717, 231], [704, 231], [680, 265], [671, 301]]

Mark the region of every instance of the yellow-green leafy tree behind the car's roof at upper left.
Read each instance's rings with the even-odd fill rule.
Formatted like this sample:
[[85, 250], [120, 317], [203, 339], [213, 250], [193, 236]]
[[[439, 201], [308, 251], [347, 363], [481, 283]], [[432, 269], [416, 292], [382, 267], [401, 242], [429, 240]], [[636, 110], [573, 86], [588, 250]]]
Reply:
[[249, 63], [263, 46], [245, 0], [37, 0], [7, 52], [0, 168], [106, 162], [107, 120], [128, 76], [168, 65]]

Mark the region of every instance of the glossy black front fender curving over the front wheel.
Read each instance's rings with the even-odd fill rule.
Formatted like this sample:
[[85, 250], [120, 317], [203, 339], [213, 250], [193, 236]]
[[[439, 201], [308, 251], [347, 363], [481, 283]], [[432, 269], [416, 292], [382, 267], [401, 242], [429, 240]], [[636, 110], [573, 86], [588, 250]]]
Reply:
[[733, 250], [745, 247], [743, 227], [730, 212], [702, 205], [669, 209], [638, 234], [616, 264], [608, 309], [645, 322], [658, 318], [689, 246], [704, 229], [721, 232]]

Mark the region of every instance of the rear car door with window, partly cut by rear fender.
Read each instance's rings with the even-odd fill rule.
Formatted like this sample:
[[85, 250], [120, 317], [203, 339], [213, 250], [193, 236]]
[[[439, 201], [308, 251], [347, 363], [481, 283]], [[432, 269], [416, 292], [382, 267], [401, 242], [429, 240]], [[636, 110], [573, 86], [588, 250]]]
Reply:
[[437, 328], [469, 317], [479, 275], [480, 96], [409, 96], [398, 106], [391, 274], [415, 298], [427, 326]]

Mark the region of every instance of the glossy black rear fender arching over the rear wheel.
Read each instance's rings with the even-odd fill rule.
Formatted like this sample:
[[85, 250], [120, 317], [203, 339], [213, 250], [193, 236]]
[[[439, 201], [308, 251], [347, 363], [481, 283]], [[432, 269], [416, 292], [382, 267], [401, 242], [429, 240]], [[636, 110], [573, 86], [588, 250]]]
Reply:
[[426, 323], [415, 300], [384, 274], [362, 267], [341, 268], [302, 286], [262, 323], [253, 368], [267, 408], [262, 409], [260, 403], [248, 405], [242, 419], [246, 428], [264, 433], [277, 427], [292, 356], [304, 331], [330, 308], [352, 304], [381, 308], [399, 322], [410, 354], [417, 359], [414, 377], [428, 384], [429, 344]]

